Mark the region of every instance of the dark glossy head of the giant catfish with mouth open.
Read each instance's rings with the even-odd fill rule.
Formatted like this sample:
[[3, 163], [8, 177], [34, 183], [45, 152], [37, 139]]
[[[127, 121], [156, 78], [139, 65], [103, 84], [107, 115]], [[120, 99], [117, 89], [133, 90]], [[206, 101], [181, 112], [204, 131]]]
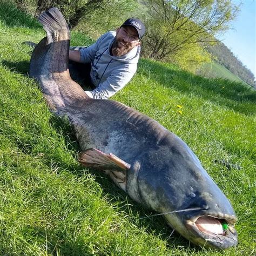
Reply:
[[144, 154], [138, 187], [144, 204], [164, 213], [167, 223], [194, 244], [220, 249], [237, 245], [230, 201], [174, 134]]

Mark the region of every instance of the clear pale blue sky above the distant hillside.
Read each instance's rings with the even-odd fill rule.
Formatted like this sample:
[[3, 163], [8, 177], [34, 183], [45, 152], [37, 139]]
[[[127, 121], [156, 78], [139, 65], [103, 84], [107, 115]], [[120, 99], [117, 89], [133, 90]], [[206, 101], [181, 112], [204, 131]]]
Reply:
[[250, 69], [256, 79], [256, 0], [232, 0], [242, 3], [240, 12], [232, 22], [233, 30], [219, 37], [241, 62]]

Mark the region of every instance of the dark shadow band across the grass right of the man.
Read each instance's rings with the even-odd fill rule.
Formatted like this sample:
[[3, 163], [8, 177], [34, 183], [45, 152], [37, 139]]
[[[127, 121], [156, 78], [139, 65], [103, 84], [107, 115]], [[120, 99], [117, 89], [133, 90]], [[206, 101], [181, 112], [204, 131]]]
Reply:
[[[244, 114], [255, 112], [246, 104], [255, 104], [256, 91], [250, 86], [222, 78], [204, 78], [184, 70], [168, 68], [166, 64], [149, 59], [140, 60], [140, 73], [164, 87], [171, 87], [185, 95], [196, 95]], [[152, 75], [153, 74], [153, 75]]]

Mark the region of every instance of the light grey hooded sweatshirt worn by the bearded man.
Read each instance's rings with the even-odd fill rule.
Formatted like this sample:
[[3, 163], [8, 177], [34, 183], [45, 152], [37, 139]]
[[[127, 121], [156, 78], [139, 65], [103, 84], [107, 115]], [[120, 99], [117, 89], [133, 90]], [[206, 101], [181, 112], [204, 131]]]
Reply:
[[95, 99], [107, 99], [122, 89], [134, 76], [139, 60], [140, 46], [123, 56], [111, 56], [111, 47], [116, 37], [110, 31], [99, 37], [96, 43], [80, 49], [81, 62], [91, 62], [91, 80], [96, 86], [86, 94]]

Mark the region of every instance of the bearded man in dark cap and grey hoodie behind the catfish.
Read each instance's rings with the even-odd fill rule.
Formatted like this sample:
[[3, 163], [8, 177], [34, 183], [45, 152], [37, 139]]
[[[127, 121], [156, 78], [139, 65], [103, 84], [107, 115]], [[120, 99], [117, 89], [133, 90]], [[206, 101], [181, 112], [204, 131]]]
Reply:
[[105, 33], [88, 48], [69, 51], [70, 60], [90, 63], [89, 78], [96, 87], [85, 91], [90, 98], [107, 99], [131, 80], [137, 70], [144, 33], [144, 24], [129, 18], [119, 29]]

